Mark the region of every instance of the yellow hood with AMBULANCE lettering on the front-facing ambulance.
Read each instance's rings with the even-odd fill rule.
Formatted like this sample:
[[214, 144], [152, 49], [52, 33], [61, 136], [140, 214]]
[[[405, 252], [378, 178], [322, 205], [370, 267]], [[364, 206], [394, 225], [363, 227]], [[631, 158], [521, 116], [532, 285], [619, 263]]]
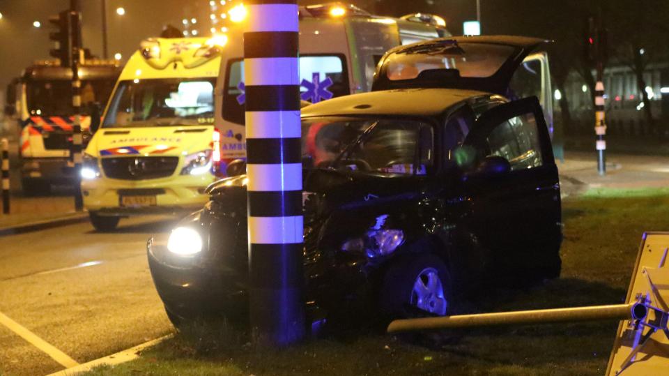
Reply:
[[180, 156], [211, 149], [213, 126], [102, 128], [86, 148], [92, 156]]

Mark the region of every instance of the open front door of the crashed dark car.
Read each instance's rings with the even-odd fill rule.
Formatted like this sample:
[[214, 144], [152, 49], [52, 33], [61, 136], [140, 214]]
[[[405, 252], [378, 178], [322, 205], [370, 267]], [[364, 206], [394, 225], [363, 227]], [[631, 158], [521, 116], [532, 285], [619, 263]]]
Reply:
[[539, 100], [515, 100], [484, 112], [464, 147], [477, 160], [461, 187], [472, 201], [469, 225], [493, 251], [493, 264], [507, 273], [554, 276], [560, 260], [560, 186]]

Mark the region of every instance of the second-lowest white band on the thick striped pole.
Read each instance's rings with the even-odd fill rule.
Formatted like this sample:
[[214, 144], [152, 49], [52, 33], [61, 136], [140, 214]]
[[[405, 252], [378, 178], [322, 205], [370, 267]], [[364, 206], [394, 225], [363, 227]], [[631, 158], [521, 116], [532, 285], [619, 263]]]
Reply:
[[246, 172], [248, 190], [302, 190], [302, 163], [247, 165]]

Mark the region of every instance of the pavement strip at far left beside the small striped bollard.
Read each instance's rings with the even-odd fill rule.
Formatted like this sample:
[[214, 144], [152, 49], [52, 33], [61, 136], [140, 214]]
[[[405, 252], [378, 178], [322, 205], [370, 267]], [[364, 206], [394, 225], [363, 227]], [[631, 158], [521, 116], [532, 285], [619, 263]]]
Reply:
[[10, 213], [0, 212], [0, 236], [84, 222], [86, 211], [75, 211], [72, 197], [12, 197]]

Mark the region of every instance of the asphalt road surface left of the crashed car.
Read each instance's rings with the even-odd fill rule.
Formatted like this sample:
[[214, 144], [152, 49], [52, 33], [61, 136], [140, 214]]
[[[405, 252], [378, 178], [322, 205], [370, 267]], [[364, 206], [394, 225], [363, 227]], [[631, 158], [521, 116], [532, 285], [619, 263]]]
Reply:
[[[78, 363], [164, 336], [173, 329], [145, 247], [173, 224], [146, 217], [121, 220], [109, 234], [83, 223], [0, 237], [0, 314]], [[0, 375], [63, 368], [0, 320]]]

